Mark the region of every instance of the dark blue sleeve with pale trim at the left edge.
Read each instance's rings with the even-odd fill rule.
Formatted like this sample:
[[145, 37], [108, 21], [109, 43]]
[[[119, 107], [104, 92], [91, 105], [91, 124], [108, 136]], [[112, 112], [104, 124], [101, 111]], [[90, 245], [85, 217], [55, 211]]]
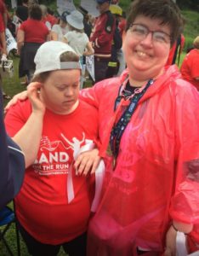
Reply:
[[24, 155], [5, 131], [3, 96], [0, 88], [0, 209], [20, 191], [24, 172]]

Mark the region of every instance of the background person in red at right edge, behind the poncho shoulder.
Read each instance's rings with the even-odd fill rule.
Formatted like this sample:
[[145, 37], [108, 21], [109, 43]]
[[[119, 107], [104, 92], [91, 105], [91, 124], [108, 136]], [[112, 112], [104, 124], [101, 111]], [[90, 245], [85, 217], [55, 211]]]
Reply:
[[194, 49], [185, 55], [185, 59], [180, 67], [183, 79], [193, 84], [199, 90], [199, 36], [193, 41]]

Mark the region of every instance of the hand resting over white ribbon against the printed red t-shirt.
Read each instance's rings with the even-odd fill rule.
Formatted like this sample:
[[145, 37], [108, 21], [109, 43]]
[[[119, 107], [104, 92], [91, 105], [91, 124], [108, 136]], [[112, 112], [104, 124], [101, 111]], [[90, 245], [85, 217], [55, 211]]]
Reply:
[[97, 148], [79, 154], [74, 164], [77, 175], [86, 176], [88, 172], [93, 174], [99, 165], [99, 160], [99, 150]]

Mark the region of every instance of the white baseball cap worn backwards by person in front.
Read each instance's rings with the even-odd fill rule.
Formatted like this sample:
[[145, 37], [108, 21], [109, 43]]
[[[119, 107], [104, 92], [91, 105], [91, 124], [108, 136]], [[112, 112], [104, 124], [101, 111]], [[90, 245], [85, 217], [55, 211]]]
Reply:
[[37, 49], [37, 54], [35, 55], [34, 62], [36, 64], [36, 70], [34, 76], [47, 71], [81, 69], [79, 61], [60, 62], [60, 55], [66, 51], [71, 51], [77, 55], [71, 46], [63, 42], [48, 41], [42, 44], [39, 49]]

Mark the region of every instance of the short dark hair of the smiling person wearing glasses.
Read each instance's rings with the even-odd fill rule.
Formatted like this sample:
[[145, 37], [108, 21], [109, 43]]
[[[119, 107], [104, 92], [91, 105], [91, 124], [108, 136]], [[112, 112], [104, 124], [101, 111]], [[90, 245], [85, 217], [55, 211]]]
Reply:
[[134, 0], [128, 12], [126, 32], [138, 15], [162, 20], [161, 25], [170, 26], [171, 45], [173, 45], [183, 30], [182, 15], [178, 6], [173, 3], [173, 0]]

